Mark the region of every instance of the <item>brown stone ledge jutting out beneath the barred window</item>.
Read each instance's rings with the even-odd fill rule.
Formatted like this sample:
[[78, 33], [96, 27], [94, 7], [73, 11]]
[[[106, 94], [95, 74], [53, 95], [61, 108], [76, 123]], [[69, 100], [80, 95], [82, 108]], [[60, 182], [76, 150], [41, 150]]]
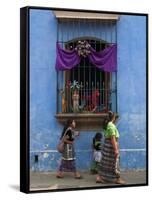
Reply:
[[106, 113], [58, 113], [55, 115], [63, 125], [68, 119], [74, 119], [77, 130], [85, 131], [101, 131], [103, 120], [107, 116]]

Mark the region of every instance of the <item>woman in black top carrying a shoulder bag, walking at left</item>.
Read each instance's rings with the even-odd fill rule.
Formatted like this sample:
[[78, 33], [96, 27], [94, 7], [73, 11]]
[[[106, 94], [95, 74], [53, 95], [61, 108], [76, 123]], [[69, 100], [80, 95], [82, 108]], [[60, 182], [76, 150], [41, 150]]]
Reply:
[[66, 126], [63, 129], [61, 138], [64, 140], [64, 151], [62, 153], [61, 163], [59, 166], [58, 173], [56, 175], [57, 178], [63, 178], [63, 172], [73, 172], [74, 177], [77, 179], [82, 178], [79, 172], [76, 170], [75, 163], [75, 149], [74, 149], [74, 141], [76, 132], [74, 128], [76, 127], [76, 122], [74, 120], [69, 119], [67, 121]]

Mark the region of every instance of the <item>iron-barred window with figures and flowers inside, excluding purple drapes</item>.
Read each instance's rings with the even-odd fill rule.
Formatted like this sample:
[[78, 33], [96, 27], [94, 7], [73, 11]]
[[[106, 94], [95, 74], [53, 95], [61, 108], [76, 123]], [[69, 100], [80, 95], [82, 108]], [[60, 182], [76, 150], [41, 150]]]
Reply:
[[[84, 25], [89, 27], [87, 31]], [[97, 52], [101, 51], [116, 42], [115, 32], [115, 23], [111, 21], [58, 21], [58, 43], [68, 50], [75, 48], [78, 41], [87, 41]], [[108, 110], [116, 111], [116, 77], [116, 73], [99, 70], [87, 57], [82, 58], [77, 67], [57, 72], [57, 113], [104, 114]], [[73, 90], [73, 85], [78, 89]]]

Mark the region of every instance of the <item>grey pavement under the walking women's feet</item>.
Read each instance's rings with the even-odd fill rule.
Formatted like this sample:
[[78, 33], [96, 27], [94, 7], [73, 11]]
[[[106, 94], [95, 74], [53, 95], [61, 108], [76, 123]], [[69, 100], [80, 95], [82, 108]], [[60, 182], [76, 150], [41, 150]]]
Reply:
[[[68, 189], [89, 189], [106, 188], [119, 186], [114, 183], [96, 183], [96, 175], [90, 172], [80, 172], [83, 179], [75, 179], [73, 174], [64, 173], [64, 178], [56, 178], [56, 172], [30, 172], [30, 191], [42, 190], [68, 190]], [[121, 178], [125, 180], [124, 186], [146, 185], [146, 171], [123, 171]]]

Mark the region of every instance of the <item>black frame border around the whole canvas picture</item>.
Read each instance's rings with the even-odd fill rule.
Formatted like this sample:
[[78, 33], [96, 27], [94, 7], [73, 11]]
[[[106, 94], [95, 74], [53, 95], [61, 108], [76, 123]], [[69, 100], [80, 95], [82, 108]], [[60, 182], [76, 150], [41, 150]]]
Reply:
[[[70, 189], [55, 189], [55, 190], [37, 190], [30, 191], [30, 9], [36, 10], [57, 10], [57, 11], [73, 11], [73, 12], [90, 12], [90, 13], [104, 13], [104, 14], [123, 14], [146, 17], [146, 183], [143, 184], [129, 184], [116, 186], [101, 186], [101, 187], [83, 187]], [[132, 13], [120, 11], [102, 11], [102, 10], [84, 10], [73, 8], [57, 8], [57, 7], [39, 7], [26, 6], [20, 8], [20, 191], [24, 193], [41, 193], [41, 192], [61, 192], [61, 191], [77, 191], [77, 190], [95, 190], [107, 188], [126, 188], [149, 185], [149, 138], [148, 138], [148, 38], [149, 38], [149, 14], [148, 13]]]

